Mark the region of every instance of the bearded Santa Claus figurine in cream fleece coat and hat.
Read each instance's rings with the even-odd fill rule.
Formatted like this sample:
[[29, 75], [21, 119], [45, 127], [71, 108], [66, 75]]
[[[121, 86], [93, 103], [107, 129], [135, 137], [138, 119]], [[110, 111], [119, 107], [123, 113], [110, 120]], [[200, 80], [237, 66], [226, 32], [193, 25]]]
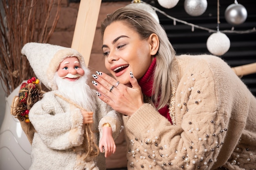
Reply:
[[30, 170], [106, 169], [104, 156], [115, 152], [122, 120], [90, 89], [81, 54], [40, 43], [25, 44], [21, 53], [49, 89], [29, 110], [35, 129]]

